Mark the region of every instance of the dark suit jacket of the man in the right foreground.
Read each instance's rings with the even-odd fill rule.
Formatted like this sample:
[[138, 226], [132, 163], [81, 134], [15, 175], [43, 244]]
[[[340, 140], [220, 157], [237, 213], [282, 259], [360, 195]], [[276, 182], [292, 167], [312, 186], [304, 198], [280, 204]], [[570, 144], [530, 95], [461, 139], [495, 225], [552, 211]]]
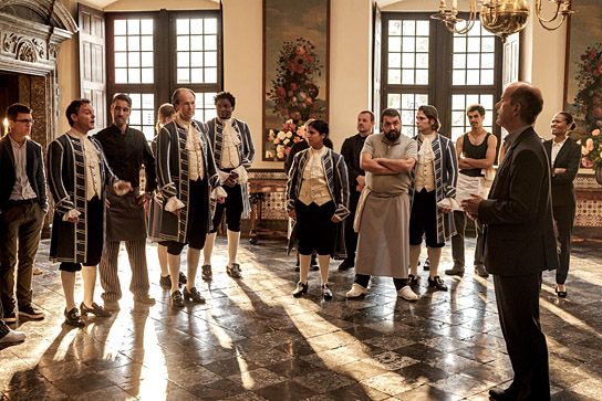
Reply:
[[558, 267], [550, 162], [533, 128], [506, 150], [478, 218], [487, 224], [485, 265], [490, 274], [521, 276]]

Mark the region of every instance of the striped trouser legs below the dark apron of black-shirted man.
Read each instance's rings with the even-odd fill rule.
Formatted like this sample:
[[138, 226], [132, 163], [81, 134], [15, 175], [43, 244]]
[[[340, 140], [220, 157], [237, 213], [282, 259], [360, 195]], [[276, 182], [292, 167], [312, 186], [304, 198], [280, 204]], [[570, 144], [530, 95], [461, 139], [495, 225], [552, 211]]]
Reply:
[[[148, 294], [148, 267], [146, 266], [146, 240], [124, 241], [125, 250], [132, 267], [132, 282], [129, 291], [134, 295]], [[120, 253], [120, 241], [107, 241], [106, 253], [98, 264], [101, 285], [104, 293], [103, 300], [118, 300], [122, 297], [122, 286], [117, 274], [117, 256]]]

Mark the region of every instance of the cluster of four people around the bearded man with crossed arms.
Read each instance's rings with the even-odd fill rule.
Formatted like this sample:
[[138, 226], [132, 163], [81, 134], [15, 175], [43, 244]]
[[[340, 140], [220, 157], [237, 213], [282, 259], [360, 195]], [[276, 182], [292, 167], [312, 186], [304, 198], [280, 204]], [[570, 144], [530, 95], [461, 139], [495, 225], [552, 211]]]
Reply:
[[359, 133], [344, 141], [341, 155], [324, 147], [325, 122], [308, 124], [309, 147], [293, 157], [287, 186], [287, 210], [297, 220], [301, 261], [294, 296], [308, 291], [310, 255], [316, 251], [322, 293], [332, 298], [328, 261], [339, 245], [336, 225], [347, 215], [339, 228], [346, 249], [339, 268], [355, 267], [356, 273], [347, 298], [367, 294], [371, 276], [378, 275], [393, 277], [402, 298], [417, 300], [412, 287], [418, 283], [424, 236], [430, 261], [428, 286], [447, 289], [437, 267], [442, 247], [455, 232], [449, 202], [456, 191], [456, 155], [454, 144], [437, 131], [435, 107], [421, 106], [416, 123], [416, 138], [402, 136], [399, 113], [387, 108], [381, 115], [383, 131], [371, 135], [374, 115], [363, 110]]

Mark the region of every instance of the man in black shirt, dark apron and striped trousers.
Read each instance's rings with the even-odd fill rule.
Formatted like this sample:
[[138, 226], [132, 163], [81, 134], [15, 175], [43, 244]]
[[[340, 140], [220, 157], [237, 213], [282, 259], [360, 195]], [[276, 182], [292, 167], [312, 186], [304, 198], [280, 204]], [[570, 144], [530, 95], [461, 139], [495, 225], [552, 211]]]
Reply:
[[[106, 210], [106, 253], [101, 258], [98, 273], [104, 293], [104, 307], [118, 310], [122, 297], [117, 256], [121, 242], [125, 242], [132, 282], [129, 291], [134, 302], [142, 306], [155, 305], [148, 295], [148, 267], [146, 265], [146, 213], [144, 205], [157, 187], [155, 158], [144, 134], [132, 128], [127, 122], [132, 114], [132, 98], [123, 93], [116, 94], [111, 104], [113, 125], [94, 136], [103, 146], [108, 167], [120, 179], [132, 183], [134, 190], [118, 197], [111, 187], [106, 188], [108, 209]], [[139, 188], [142, 166], [147, 173], [146, 188]]]

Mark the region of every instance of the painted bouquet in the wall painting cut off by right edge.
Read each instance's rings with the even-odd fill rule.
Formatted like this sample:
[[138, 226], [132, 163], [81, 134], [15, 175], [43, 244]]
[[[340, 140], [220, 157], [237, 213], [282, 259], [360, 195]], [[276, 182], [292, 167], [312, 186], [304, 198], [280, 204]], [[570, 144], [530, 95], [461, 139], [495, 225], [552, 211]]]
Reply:
[[591, 128], [602, 126], [602, 43], [588, 48], [581, 54], [578, 94], [574, 97], [577, 112], [585, 116], [585, 124]]

